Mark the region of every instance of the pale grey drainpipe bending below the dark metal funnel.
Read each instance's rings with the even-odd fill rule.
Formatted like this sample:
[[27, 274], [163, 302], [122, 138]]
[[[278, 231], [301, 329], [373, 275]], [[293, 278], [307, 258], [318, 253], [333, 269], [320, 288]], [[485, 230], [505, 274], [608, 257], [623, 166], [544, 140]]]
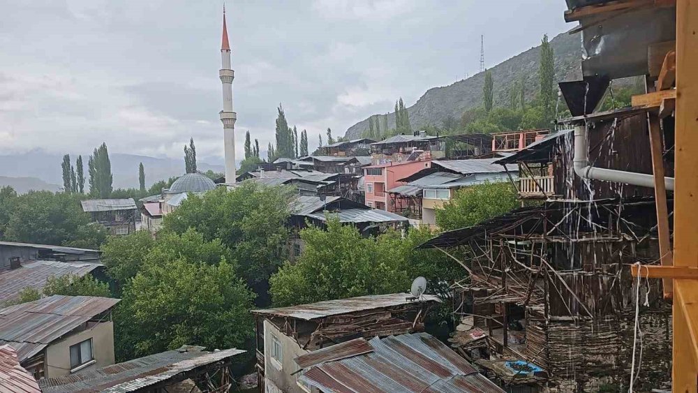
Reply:
[[[654, 188], [653, 175], [591, 166], [586, 143], [586, 126], [574, 126], [574, 159], [572, 161], [574, 163], [574, 173], [584, 179], [614, 181], [616, 183], [630, 184], [631, 186]], [[664, 184], [667, 190], [674, 191], [673, 177], [664, 177]]]

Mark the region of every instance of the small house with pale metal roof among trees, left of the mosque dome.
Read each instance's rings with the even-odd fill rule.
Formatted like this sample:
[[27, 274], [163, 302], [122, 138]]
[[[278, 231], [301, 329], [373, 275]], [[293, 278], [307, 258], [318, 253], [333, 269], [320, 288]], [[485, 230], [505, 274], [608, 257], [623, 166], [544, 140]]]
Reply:
[[128, 235], [135, 232], [138, 206], [133, 198], [128, 199], [88, 199], [80, 201], [82, 211], [91, 220], [101, 223], [112, 235]]

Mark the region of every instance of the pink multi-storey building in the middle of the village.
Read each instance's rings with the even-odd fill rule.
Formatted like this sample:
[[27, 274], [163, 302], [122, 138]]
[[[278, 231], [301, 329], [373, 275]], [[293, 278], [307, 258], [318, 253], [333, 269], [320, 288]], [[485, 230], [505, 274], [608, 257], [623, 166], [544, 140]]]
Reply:
[[408, 161], [364, 167], [366, 205], [395, 212], [395, 207], [389, 204], [387, 191], [396, 186], [403, 186], [406, 183], [398, 181], [399, 179], [414, 175], [424, 168], [431, 168], [431, 161]]

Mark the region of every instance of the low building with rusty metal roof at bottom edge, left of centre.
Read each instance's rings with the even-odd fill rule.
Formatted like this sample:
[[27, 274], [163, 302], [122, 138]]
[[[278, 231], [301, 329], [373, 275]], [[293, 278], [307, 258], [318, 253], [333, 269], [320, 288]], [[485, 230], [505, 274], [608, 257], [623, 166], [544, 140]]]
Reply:
[[207, 351], [200, 346], [181, 346], [111, 366], [45, 378], [39, 380], [39, 385], [43, 393], [206, 392], [208, 384], [217, 383], [221, 387], [235, 384], [229, 367], [237, 355], [245, 352], [235, 348]]

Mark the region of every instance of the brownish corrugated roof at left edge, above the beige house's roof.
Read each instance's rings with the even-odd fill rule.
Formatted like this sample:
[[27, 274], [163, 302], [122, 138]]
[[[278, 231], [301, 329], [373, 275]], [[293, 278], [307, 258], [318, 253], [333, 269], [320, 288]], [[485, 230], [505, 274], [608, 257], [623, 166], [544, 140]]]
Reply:
[[23, 289], [34, 288], [41, 292], [51, 276], [73, 274], [82, 277], [102, 266], [101, 263], [91, 262], [36, 260], [24, 263], [17, 269], [4, 270], [0, 272], [0, 306], [17, 299]]

